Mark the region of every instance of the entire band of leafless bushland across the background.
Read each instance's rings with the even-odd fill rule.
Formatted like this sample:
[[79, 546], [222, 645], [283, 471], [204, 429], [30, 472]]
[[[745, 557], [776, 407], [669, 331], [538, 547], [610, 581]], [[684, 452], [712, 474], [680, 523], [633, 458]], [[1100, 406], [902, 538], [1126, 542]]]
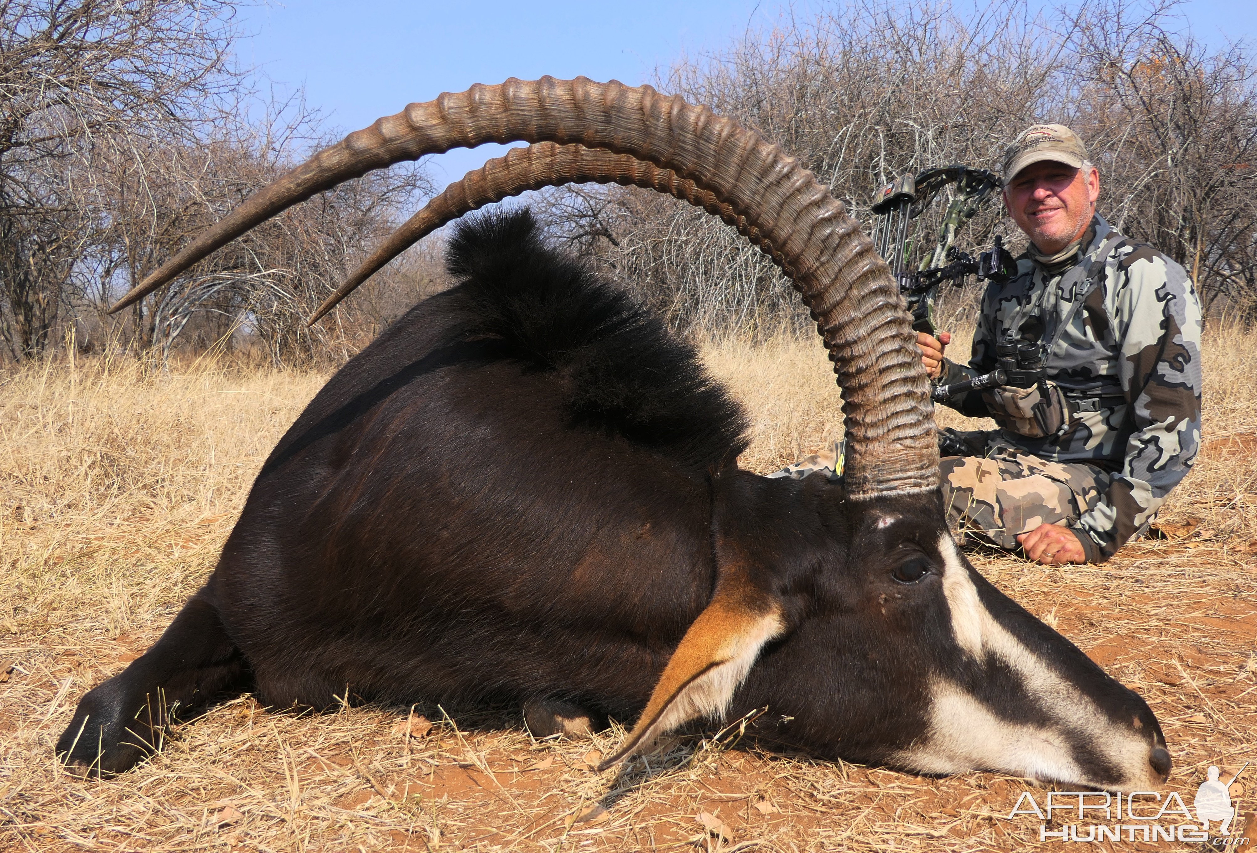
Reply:
[[[233, 0], [0, 4], [0, 358], [58, 347], [249, 348], [277, 363], [344, 358], [442, 286], [440, 235], [328, 320], [303, 318], [432, 187], [421, 166], [371, 175], [254, 230], [119, 315], [104, 309], [182, 242], [332, 142], [299, 97], [239, 67]], [[903, 172], [998, 168], [1036, 121], [1065, 122], [1100, 167], [1101, 212], [1193, 276], [1216, 317], [1257, 317], [1257, 90], [1246, 44], [1198, 40], [1173, 3], [847, 0], [683, 57], [657, 84], [732, 114], [803, 160], [869, 222]], [[430, 93], [435, 94], [435, 93]], [[422, 97], [417, 93], [416, 97]], [[621, 187], [532, 193], [556, 239], [616, 273], [683, 334], [807, 325], [776, 268], [672, 198]], [[918, 220], [933, 244], [941, 204]], [[998, 204], [977, 249], [1023, 242]], [[949, 294], [944, 322], [973, 304]]]

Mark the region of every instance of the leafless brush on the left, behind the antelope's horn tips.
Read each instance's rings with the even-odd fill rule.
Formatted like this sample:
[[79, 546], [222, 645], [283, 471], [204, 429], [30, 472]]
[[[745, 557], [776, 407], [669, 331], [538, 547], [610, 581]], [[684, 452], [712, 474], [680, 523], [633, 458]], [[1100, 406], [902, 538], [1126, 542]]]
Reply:
[[[299, 98], [253, 95], [230, 62], [234, 11], [230, 0], [0, 4], [0, 334], [14, 359], [48, 348], [58, 323], [79, 342], [163, 358], [180, 340], [255, 342], [277, 363], [318, 358], [332, 338], [347, 352], [343, 312], [341, 327], [307, 329], [304, 317], [430, 191], [420, 167], [323, 193], [121, 320], [104, 315], [191, 234], [338, 136]], [[403, 278], [393, 288], [412, 290]]]

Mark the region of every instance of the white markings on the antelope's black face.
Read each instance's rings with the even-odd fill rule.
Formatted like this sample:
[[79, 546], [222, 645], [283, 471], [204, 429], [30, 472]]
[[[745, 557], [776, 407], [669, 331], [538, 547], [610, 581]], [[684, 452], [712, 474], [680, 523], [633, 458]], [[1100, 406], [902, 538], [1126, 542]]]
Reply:
[[904, 751], [900, 760], [925, 773], [984, 768], [1042, 780], [1089, 783], [1070, 745], [1070, 740], [1082, 740], [1123, 770], [1121, 789], [1160, 788], [1148, 763], [1149, 742], [1126, 726], [1110, 722], [1095, 702], [996, 621], [982, 604], [950, 535], [939, 539], [939, 553], [943, 594], [957, 643], [978, 661], [999, 658], [1021, 680], [1028, 701], [1051, 722], [1042, 726], [1001, 720], [959, 685], [934, 678], [929, 735], [919, 746]]

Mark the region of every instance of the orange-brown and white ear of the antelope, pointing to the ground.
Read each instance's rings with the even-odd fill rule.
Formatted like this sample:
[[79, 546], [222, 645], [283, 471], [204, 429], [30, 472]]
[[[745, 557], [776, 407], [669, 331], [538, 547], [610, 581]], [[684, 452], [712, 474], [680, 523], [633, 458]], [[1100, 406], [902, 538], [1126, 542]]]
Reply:
[[655, 740], [700, 716], [724, 712], [764, 643], [781, 636], [781, 603], [757, 589], [745, 569], [720, 570], [715, 595], [672, 652], [646, 710], [600, 770], [645, 752]]

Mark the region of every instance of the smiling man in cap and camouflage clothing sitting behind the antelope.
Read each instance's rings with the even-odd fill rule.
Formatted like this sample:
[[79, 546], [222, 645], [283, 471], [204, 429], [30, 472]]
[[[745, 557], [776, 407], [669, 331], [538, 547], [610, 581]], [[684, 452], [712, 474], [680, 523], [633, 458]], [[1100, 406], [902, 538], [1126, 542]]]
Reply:
[[[1060, 124], [1017, 137], [1004, 205], [1031, 245], [988, 284], [967, 366], [950, 335], [918, 335], [931, 378], [953, 383], [1042, 358], [1046, 382], [953, 397], [993, 432], [962, 433], [943, 496], [954, 526], [1032, 560], [1100, 563], [1141, 533], [1200, 443], [1200, 304], [1183, 268], [1095, 212], [1100, 175]], [[1003, 359], [1003, 361], [1001, 361]]]

